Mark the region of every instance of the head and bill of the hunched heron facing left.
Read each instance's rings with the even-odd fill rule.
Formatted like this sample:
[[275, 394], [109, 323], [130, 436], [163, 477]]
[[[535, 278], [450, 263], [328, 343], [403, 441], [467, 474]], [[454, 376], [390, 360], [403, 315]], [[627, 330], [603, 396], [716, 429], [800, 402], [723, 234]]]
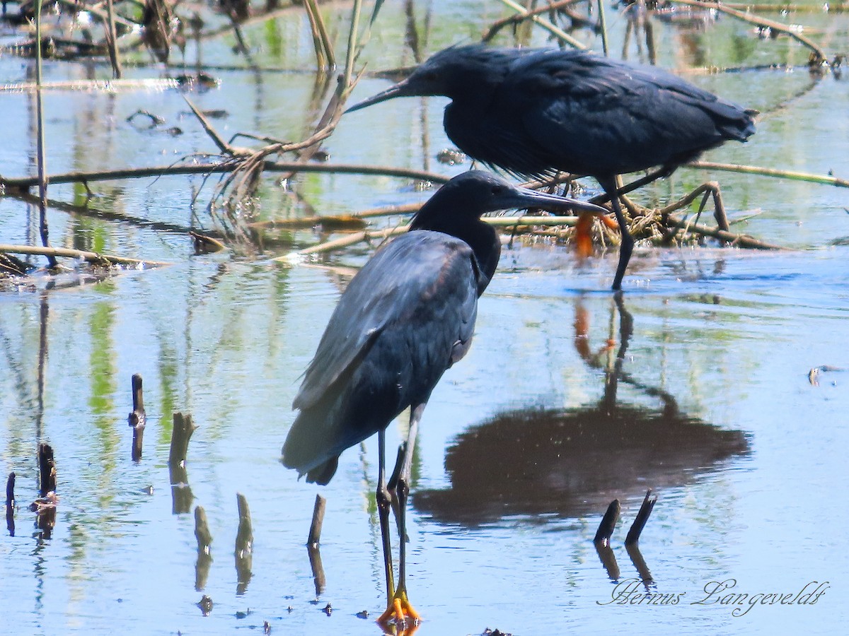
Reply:
[[511, 49], [488, 48], [480, 44], [448, 47], [419, 64], [408, 77], [345, 112], [364, 109], [391, 98], [441, 95], [447, 98], [480, 98], [487, 86], [496, 86], [507, 71]]

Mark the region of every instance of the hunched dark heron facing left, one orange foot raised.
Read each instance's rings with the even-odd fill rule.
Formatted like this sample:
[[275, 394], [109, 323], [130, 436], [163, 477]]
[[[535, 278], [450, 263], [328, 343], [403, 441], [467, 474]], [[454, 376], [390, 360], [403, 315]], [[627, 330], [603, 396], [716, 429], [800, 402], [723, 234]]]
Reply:
[[[445, 131], [472, 159], [516, 176], [564, 170], [595, 177], [621, 229], [614, 289], [633, 249], [618, 194], [755, 132], [756, 111], [664, 70], [549, 48], [450, 47], [347, 112], [413, 95], [451, 98]], [[617, 192], [616, 175], [655, 166]]]

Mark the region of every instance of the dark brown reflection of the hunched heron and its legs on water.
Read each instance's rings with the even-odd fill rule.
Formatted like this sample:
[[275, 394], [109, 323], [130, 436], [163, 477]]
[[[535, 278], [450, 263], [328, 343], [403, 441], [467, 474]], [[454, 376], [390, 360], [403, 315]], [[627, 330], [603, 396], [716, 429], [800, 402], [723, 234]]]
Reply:
[[[472, 526], [511, 515], [601, 515], [612, 499], [683, 486], [750, 452], [744, 432], [682, 413], [672, 395], [623, 370], [633, 316], [621, 295], [611, 304], [608, 344], [595, 354], [588, 325], [579, 299], [575, 346], [588, 366], [604, 369], [599, 403], [512, 410], [463, 432], [447, 450], [451, 488], [418, 491], [417, 510], [437, 522]], [[659, 406], [620, 404], [623, 383]]]

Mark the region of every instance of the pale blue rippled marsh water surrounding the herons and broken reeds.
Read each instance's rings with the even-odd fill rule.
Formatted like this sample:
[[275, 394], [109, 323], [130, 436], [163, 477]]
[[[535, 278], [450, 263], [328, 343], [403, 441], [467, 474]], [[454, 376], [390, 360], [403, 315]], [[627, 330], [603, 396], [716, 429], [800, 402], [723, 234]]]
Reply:
[[[479, 3], [433, 3], [430, 50], [474, 37], [501, 15], [500, 3], [484, 5], [481, 14]], [[421, 19], [424, 7], [417, 10]], [[608, 14], [621, 38], [623, 21]], [[846, 20], [796, 18], [832, 33], [829, 50], [845, 47]], [[339, 25], [344, 31], [344, 18]], [[284, 17], [277, 28], [301, 39], [286, 53], [266, 46], [261, 59], [309, 68], [301, 21]], [[387, 7], [367, 52], [370, 68], [410, 61], [402, 28], [401, 9]], [[669, 66], [807, 59], [786, 41], [756, 41], [731, 20], [695, 34], [658, 29]], [[262, 33], [249, 31], [267, 43]], [[682, 57], [682, 48], [695, 53]], [[205, 56], [225, 60], [227, 47]], [[23, 68], [20, 59], [0, 58], [4, 80], [20, 81]], [[59, 63], [47, 72], [73, 73]], [[306, 130], [309, 75], [218, 76], [220, 89], [191, 97], [202, 108], [228, 109], [217, 124], [225, 136], [295, 138]], [[765, 113], [750, 143], [708, 159], [849, 176], [845, 80], [773, 70], [694, 81]], [[383, 87], [363, 79], [354, 98]], [[31, 96], [0, 100], [4, 117], [19, 122], [0, 148], [0, 173], [28, 174]], [[46, 102], [52, 172], [147, 165], [157, 155], [167, 164], [211, 150], [200, 127], [181, 117], [177, 92], [50, 92]], [[434, 159], [449, 145], [443, 105], [396, 100], [365, 110], [344, 118], [326, 145], [339, 162], [464, 170]], [[185, 134], [138, 131], [126, 122], [138, 108]], [[475, 344], [436, 388], [419, 433], [408, 528], [409, 592], [425, 619], [419, 633], [825, 633], [849, 618], [849, 515], [841, 499], [849, 447], [847, 191], [680, 170], [640, 196], [671, 200], [706, 178], [721, 181], [730, 213], [760, 213], [743, 231], [793, 249], [640, 248], [617, 307], [607, 291], [614, 254], [577, 265], [564, 248], [505, 248], [481, 298]], [[299, 377], [350, 274], [271, 261], [286, 244], [191, 256], [182, 229], [211, 226], [204, 209], [211, 184], [191, 203], [202, 185], [200, 177], [104, 183], [95, 188], [94, 212], [51, 209], [57, 245], [173, 265], [100, 282], [70, 273], [55, 288], [37, 282], [0, 293], [0, 471], [17, 474], [21, 505], [14, 536], [0, 538], [0, 632], [229, 633], [265, 621], [273, 633], [380, 632], [372, 620], [385, 602], [375, 440], [342, 455], [326, 488], [297, 482], [279, 464]], [[305, 175], [293, 187], [319, 214], [428, 196], [381, 177]], [[263, 216], [292, 209], [272, 178], [261, 194]], [[70, 186], [51, 187], [50, 196], [82, 203]], [[0, 243], [34, 241], [36, 231], [36, 213], [0, 199]], [[318, 238], [302, 231], [288, 240]], [[353, 249], [328, 265], [361, 265], [367, 254]], [[809, 371], [820, 365], [847, 371], [822, 371], [813, 384]], [[143, 459], [133, 463], [126, 418], [137, 372], [149, 419]], [[213, 537], [202, 586], [194, 516], [172, 514], [175, 410], [199, 427], [187, 469], [192, 507], [203, 506]], [[405, 426], [403, 416], [391, 425], [390, 448]], [[39, 441], [53, 445], [59, 471], [50, 538], [25, 509], [37, 494]], [[649, 591], [675, 605], [613, 602], [617, 591], [643, 589], [629, 587], [640, 574], [623, 539], [647, 488], [658, 495], [639, 544], [654, 581]], [[304, 545], [317, 491], [328, 498], [318, 599]], [[246, 587], [233, 556], [237, 493], [253, 521]], [[614, 498], [622, 501], [613, 539], [618, 575], [604, 569], [592, 543]], [[729, 579], [736, 586], [728, 591], [740, 594], [796, 595], [812, 582], [807, 592], [825, 582], [827, 589], [816, 603], [754, 605], [745, 616], [736, 606], [697, 603], [711, 582]], [[209, 616], [196, 605], [202, 594], [214, 602]], [[363, 610], [368, 619], [356, 616]]]

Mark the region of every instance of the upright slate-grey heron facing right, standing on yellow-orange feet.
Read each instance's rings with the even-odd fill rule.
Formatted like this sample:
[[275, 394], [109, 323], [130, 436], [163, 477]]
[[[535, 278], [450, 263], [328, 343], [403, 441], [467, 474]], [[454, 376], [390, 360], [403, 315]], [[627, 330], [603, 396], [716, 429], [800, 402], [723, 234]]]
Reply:
[[[513, 187], [486, 172], [454, 177], [422, 206], [410, 232], [380, 248], [353, 277], [295, 397], [294, 407], [301, 412], [286, 438], [283, 463], [306, 474], [308, 482], [328, 483], [339, 455], [378, 433], [377, 501], [389, 594], [383, 620], [418, 617], [408, 603], [404, 577], [413, 444], [430, 392], [469, 350], [477, 299], [498, 265], [498, 234], [481, 215], [526, 207], [605, 212], [593, 204]], [[401, 541], [398, 588], [393, 590], [385, 428], [408, 406], [410, 432], [396, 488]]]

